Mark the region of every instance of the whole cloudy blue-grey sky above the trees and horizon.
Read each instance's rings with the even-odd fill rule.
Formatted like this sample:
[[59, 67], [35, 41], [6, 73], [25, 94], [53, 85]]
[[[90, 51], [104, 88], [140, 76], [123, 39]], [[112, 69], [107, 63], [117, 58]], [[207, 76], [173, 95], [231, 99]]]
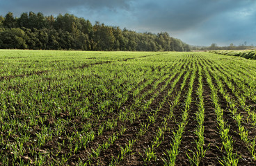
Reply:
[[256, 46], [256, 0], [0, 0], [0, 15], [65, 13], [138, 33], [167, 32], [195, 46]]

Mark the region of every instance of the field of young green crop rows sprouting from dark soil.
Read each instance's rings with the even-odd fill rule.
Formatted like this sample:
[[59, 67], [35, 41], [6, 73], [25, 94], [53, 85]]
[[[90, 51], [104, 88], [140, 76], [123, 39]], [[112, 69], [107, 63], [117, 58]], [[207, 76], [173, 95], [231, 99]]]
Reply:
[[256, 165], [256, 61], [0, 50], [0, 165]]

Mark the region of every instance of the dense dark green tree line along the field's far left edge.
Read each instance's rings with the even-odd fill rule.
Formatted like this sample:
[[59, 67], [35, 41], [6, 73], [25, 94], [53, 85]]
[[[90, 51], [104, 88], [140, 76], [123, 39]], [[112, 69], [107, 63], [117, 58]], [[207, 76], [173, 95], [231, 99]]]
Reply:
[[44, 16], [41, 12], [23, 12], [14, 17], [0, 16], [1, 49], [42, 50], [138, 50], [189, 51], [190, 46], [168, 33], [136, 33], [106, 26], [66, 13]]

